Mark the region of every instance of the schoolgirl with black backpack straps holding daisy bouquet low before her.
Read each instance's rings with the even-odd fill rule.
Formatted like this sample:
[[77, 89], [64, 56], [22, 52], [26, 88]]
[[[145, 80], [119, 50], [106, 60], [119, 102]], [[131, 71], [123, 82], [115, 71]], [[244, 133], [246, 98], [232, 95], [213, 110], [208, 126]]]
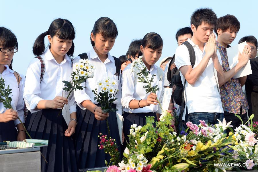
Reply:
[[[112, 57], [109, 51], [113, 48], [115, 39], [118, 35], [116, 24], [107, 17], [99, 18], [91, 32], [91, 43], [93, 47], [87, 52], [80, 54], [74, 59], [75, 65], [80, 59], [89, 59], [90, 63], [95, 66], [94, 77], [87, 79], [81, 86], [86, 86], [83, 90], [76, 90], [75, 101], [77, 102], [77, 120], [78, 125], [75, 132], [75, 148], [76, 160], [79, 169], [104, 167], [105, 160], [109, 160], [110, 156], [105, 154], [104, 150], [100, 150], [99, 133], [108, 134], [105, 119], [108, 117], [110, 126], [110, 134], [119, 146], [122, 141], [122, 125], [118, 122], [122, 117], [121, 84], [120, 84], [120, 67], [121, 62], [118, 58]], [[94, 90], [97, 82], [110, 78], [115, 80], [117, 88], [120, 90], [116, 95], [118, 100], [113, 102], [113, 107], [118, 109], [117, 112], [104, 113], [99, 103], [94, 100]], [[116, 89], [117, 89], [116, 88]]]

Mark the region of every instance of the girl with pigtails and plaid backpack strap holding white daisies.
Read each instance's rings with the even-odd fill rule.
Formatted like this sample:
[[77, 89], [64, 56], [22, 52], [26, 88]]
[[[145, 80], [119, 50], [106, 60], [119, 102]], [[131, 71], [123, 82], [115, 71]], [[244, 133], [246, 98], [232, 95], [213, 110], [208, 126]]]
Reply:
[[[45, 50], [44, 37], [50, 46]], [[41, 161], [41, 171], [77, 171], [73, 139], [75, 132], [76, 102], [73, 93], [64, 92], [63, 80], [71, 81], [75, 30], [71, 22], [56, 19], [38, 36], [33, 46], [34, 55], [28, 66], [24, 88], [24, 101], [31, 115], [27, 116], [26, 127], [33, 139], [48, 140], [41, 147], [48, 164]], [[44, 74], [43, 74], [44, 73]], [[71, 121], [67, 126], [58, 112], [69, 105]]]

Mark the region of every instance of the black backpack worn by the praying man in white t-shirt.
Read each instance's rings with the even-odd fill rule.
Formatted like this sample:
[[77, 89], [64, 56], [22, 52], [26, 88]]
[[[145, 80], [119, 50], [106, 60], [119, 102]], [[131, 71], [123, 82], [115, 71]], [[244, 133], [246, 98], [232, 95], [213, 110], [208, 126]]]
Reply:
[[[191, 45], [190, 42], [183, 42], [182, 45], [185, 45], [189, 51], [189, 57], [190, 57], [190, 62], [192, 67], [195, 64], [195, 52], [193, 49], [193, 46]], [[174, 99], [175, 103], [177, 105], [181, 105], [181, 112], [180, 112], [180, 117], [182, 119], [183, 112], [184, 112], [184, 105], [185, 105], [185, 99], [184, 99], [184, 93], [185, 93], [185, 83], [184, 85], [182, 84], [181, 76], [179, 69], [177, 69], [175, 65], [175, 54], [173, 55], [170, 63], [170, 72], [167, 72], [167, 80], [169, 81], [169, 88], [173, 88], [172, 91], [172, 100]]]

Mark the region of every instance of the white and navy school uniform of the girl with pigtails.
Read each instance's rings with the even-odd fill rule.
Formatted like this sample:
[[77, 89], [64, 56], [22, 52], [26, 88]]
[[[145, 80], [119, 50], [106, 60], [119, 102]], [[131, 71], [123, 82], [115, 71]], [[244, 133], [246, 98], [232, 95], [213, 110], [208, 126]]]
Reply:
[[[49, 48], [40, 57], [45, 66], [42, 81], [42, 64], [39, 59], [33, 58], [27, 70], [24, 101], [31, 115], [27, 116], [26, 127], [33, 139], [48, 140], [48, 146], [40, 149], [48, 161], [46, 164], [41, 159], [41, 171], [77, 171], [73, 138], [64, 136], [68, 126], [62, 115], [58, 116], [60, 109], [36, 109], [41, 100], [68, 96], [68, 92], [63, 91], [62, 81], [71, 81], [72, 61], [64, 55], [64, 60], [58, 64]], [[73, 92], [68, 98], [68, 104], [70, 113], [76, 112]]]

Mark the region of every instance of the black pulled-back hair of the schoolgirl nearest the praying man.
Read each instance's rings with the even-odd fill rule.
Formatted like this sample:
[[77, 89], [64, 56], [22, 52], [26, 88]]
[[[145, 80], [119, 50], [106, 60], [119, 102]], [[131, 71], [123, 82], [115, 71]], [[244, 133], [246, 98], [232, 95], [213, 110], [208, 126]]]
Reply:
[[155, 32], [150, 32], [142, 38], [141, 45], [143, 48], [150, 48], [155, 50], [163, 46], [163, 40], [159, 34]]

